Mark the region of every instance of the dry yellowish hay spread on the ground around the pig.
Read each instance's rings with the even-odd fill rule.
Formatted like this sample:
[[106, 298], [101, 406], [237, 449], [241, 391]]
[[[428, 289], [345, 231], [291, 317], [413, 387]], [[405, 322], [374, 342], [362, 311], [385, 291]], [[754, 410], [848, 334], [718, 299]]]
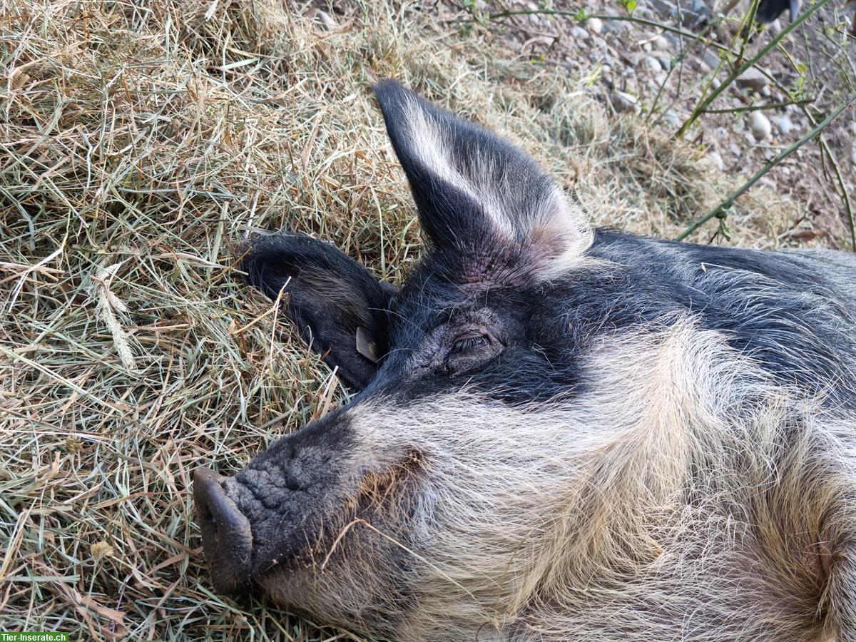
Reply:
[[[508, 134], [568, 187], [579, 168], [599, 222], [675, 235], [734, 184], [484, 30], [417, 6], [354, 5], [332, 30], [310, 15], [275, 0], [4, 5], [0, 629], [331, 634], [211, 592], [188, 487], [346, 395], [241, 287], [235, 241], [301, 229], [393, 280], [419, 254], [372, 79]], [[734, 212], [743, 245], [774, 246], [799, 217], [768, 197]]]

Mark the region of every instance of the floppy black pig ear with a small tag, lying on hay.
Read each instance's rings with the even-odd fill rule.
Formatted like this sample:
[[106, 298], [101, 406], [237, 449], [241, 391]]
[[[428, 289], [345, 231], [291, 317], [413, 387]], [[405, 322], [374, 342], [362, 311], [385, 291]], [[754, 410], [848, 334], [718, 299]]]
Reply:
[[360, 390], [388, 350], [387, 310], [395, 288], [336, 247], [311, 236], [259, 236], [242, 248], [247, 282], [276, 300], [300, 335], [338, 366], [342, 380]]

